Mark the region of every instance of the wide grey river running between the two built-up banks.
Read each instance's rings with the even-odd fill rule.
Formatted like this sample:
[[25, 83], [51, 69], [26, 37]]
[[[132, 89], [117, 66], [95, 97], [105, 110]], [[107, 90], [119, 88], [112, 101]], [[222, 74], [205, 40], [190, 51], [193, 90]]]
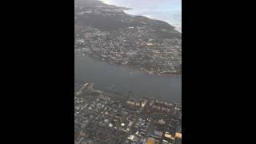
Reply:
[[182, 77], [156, 76], [143, 70], [130, 67], [111, 65], [81, 54], [74, 58], [74, 77], [83, 82], [93, 82], [102, 90], [128, 94], [131, 90], [134, 96], [157, 96], [168, 102], [182, 102]]

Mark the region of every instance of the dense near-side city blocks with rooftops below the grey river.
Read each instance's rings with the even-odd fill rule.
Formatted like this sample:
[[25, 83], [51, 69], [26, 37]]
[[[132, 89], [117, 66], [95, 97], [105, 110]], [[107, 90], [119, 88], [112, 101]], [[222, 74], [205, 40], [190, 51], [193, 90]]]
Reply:
[[175, 144], [182, 139], [182, 106], [96, 90], [86, 83], [74, 94], [75, 144]]

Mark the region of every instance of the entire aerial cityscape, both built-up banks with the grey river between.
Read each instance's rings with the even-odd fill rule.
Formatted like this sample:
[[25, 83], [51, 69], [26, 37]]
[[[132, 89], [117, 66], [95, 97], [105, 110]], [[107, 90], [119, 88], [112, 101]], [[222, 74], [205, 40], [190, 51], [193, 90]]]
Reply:
[[130, 9], [74, 0], [75, 144], [182, 143], [182, 34]]

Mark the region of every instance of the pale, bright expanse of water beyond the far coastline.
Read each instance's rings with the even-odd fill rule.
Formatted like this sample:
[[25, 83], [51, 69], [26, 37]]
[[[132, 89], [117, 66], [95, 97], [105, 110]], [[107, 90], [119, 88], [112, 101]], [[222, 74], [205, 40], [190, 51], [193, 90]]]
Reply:
[[126, 14], [144, 15], [170, 23], [182, 32], [182, 0], [102, 0], [107, 4], [125, 6]]

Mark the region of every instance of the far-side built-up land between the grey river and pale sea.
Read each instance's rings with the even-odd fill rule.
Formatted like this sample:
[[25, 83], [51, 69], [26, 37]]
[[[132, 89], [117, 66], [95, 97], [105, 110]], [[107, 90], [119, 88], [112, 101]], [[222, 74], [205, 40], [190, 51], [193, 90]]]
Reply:
[[74, 48], [150, 74], [182, 74], [182, 34], [167, 22], [98, 0], [74, 1]]

